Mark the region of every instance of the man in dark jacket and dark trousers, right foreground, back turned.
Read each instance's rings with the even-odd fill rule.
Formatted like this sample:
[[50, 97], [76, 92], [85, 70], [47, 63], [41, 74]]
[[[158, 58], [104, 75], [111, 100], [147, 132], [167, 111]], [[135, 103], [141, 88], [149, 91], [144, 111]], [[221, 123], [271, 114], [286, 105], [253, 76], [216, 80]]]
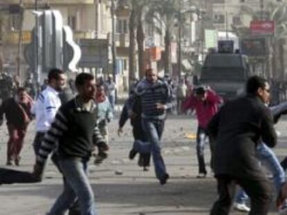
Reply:
[[262, 77], [247, 81], [245, 97], [228, 102], [209, 122], [208, 133], [215, 138], [214, 172], [219, 198], [211, 215], [229, 214], [235, 185], [251, 198], [250, 214], [268, 214], [272, 189], [256, 158], [259, 140], [268, 147], [277, 143], [271, 113], [266, 106], [270, 86]]

